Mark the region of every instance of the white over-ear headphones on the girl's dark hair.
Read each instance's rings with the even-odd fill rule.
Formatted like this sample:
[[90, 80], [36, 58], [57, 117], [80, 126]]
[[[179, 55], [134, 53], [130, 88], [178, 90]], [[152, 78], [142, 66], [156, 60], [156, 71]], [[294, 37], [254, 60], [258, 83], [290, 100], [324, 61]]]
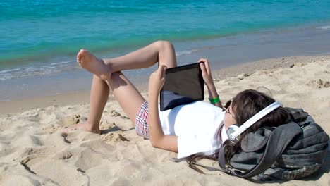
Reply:
[[281, 106], [281, 104], [278, 101], [275, 101], [274, 103], [256, 113], [255, 116], [252, 116], [249, 120], [245, 121], [245, 123], [243, 123], [243, 125], [240, 127], [237, 125], [231, 125], [227, 130], [229, 140], [231, 140], [231, 142], [238, 140], [238, 136], [247, 130], [247, 128], [250, 128], [250, 126], [255, 124], [259, 119], [266, 116], [271, 111], [279, 108], [279, 106]]

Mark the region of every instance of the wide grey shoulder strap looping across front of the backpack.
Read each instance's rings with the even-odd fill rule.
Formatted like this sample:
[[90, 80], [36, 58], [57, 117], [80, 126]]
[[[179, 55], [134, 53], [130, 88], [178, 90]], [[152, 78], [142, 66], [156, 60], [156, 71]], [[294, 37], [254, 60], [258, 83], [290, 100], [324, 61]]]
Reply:
[[293, 137], [300, 134], [300, 132], [300, 126], [294, 122], [280, 125], [278, 128], [273, 130], [267, 142], [267, 146], [264, 150], [262, 159], [254, 168], [245, 172], [226, 167], [226, 161], [224, 158], [224, 151], [226, 148], [225, 145], [224, 147], [221, 147], [219, 151], [219, 166], [221, 170], [226, 173], [236, 175], [240, 178], [252, 178], [253, 176], [264, 172], [267, 170], [267, 168], [270, 168], [271, 165], [279, 158], [279, 156], [281, 156], [284, 149], [286, 149], [291, 140], [293, 140]]

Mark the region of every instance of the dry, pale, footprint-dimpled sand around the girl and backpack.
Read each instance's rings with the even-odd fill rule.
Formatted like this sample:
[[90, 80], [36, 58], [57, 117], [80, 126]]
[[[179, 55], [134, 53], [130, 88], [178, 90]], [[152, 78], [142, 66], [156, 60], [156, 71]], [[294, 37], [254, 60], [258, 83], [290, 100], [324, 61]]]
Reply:
[[[271, 58], [223, 68], [213, 77], [224, 102], [244, 89], [267, 87], [283, 106], [303, 108], [330, 134], [330, 56]], [[147, 99], [146, 87], [139, 89]], [[86, 120], [88, 112], [89, 92], [0, 102], [0, 185], [255, 185], [216, 170], [202, 175], [185, 161], [171, 161], [175, 153], [155, 149], [135, 134], [112, 94], [102, 135], [61, 134]], [[317, 174], [267, 185], [330, 185], [329, 171], [328, 153]]]

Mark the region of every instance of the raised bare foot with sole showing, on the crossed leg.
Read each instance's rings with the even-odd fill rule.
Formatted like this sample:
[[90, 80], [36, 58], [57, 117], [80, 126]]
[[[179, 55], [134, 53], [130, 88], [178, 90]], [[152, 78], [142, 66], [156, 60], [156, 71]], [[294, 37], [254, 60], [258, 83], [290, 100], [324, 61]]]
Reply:
[[82, 68], [85, 68], [90, 73], [97, 75], [102, 80], [109, 80], [111, 72], [109, 66], [106, 66], [102, 59], [95, 57], [89, 51], [80, 49], [77, 54], [77, 62]]

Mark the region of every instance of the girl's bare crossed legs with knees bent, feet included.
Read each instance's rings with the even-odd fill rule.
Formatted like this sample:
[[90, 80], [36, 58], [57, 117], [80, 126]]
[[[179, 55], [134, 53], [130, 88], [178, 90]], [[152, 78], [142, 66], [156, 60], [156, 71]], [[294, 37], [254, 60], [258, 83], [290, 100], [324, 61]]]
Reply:
[[[87, 56], [87, 58], [86, 58]], [[140, 92], [129, 82], [129, 80], [119, 70], [128, 70], [136, 68], [147, 68], [159, 61], [168, 68], [176, 66], [176, 56], [173, 46], [170, 42], [154, 42], [142, 49], [133, 51], [130, 54], [118, 58], [109, 58], [100, 60], [90, 54], [88, 51], [78, 53], [77, 59], [84, 64], [88, 63], [105, 63], [108, 70], [112, 73], [100, 77], [102, 72], [106, 70], [97, 70], [93, 65], [84, 65], [87, 70], [94, 71], [95, 74], [92, 82], [90, 95], [90, 117], [85, 123], [73, 125], [70, 128], [63, 130], [68, 132], [72, 129], [82, 129], [90, 132], [99, 133], [99, 121], [101, 119], [104, 106], [109, 96], [109, 87], [114, 92], [116, 100], [119, 102], [130, 120], [135, 123], [135, 115], [138, 113], [140, 106], [145, 99]], [[81, 63], [80, 62], [80, 63]], [[101, 64], [102, 65], [102, 64]], [[84, 66], [82, 66], [84, 68]], [[102, 65], [103, 66], [103, 65]], [[106, 68], [102, 67], [102, 68]], [[90, 69], [93, 68], [93, 69]], [[117, 72], [117, 73], [115, 73]], [[104, 81], [104, 79], [106, 79]]]

